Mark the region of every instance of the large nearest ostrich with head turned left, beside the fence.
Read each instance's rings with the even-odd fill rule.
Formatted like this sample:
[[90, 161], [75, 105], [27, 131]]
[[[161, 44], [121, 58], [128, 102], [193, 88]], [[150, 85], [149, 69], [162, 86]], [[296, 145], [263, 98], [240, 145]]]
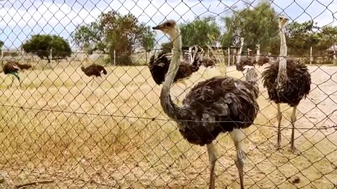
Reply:
[[152, 29], [168, 34], [173, 41], [173, 57], [160, 94], [161, 107], [169, 118], [178, 123], [183, 138], [191, 144], [207, 146], [211, 164], [209, 188], [215, 188], [216, 146], [213, 140], [221, 132], [229, 132], [237, 151], [235, 165], [239, 172], [240, 186], [244, 188], [244, 134], [241, 129], [253, 124], [259, 110], [255, 69], [250, 69], [246, 74], [249, 81], [226, 76], [201, 81], [187, 94], [183, 106], [178, 107], [171, 99], [170, 88], [180, 65], [180, 30], [174, 20], [168, 20]]

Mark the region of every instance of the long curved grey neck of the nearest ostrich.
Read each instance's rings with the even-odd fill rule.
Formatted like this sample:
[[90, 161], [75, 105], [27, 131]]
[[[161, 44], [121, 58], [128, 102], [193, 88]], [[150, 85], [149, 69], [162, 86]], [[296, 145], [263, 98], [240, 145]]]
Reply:
[[[177, 31], [179, 31], [177, 29]], [[167, 72], [163, 87], [160, 93], [160, 104], [164, 112], [173, 119], [177, 119], [180, 115], [180, 108], [173, 103], [170, 95], [170, 88], [176, 77], [179, 65], [180, 65], [180, 51], [181, 51], [181, 36], [180, 32], [175, 35], [171, 35], [171, 40], [173, 40], [173, 57], [171, 59], [171, 64], [169, 66], [169, 71]]]

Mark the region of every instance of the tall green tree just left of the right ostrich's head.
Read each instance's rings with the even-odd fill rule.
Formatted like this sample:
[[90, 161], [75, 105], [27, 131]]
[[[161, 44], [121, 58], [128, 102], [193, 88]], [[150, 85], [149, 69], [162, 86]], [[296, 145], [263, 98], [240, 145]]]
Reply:
[[270, 3], [262, 1], [253, 8], [234, 10], [224, 22], [223, 46], [238, 45], [235, 42], [244, 37], [245, 48], [255, 49], [256, 44], [260, 44], [262, 52], [279, 52], [277, 14]]

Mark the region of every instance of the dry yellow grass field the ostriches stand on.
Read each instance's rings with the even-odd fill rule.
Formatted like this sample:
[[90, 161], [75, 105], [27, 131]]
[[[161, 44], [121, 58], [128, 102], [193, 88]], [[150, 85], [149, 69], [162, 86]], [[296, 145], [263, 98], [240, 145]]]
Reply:
[[[108, 75], [93, 86], [86, 85], [91, 79], [79, 66], [61, 63], [25, 71], [20, 73], [22, 88], [16, 87], [18, 80], [8, 88], [11, 78], [1, 74], [0, 172], [6, 176], [1, 188], [40, 180], [55, 181], [42, 188], [207, 186], [206, 148], [188, 144], [176, 124], [166, 121], [159, 104], [161, 87], [155, 85], [146, 66], [110, 66]], [[301, 113], [296, 127], [336, 124], [332, 121], [336, 113], [330, 120], [324, 116], [336, 110], [337, 76], [333, 74], [337, 69], [312, 66], [310, 70], [313, 90], [298, 108]], [[187, 83], [193, 85], [218, 74], [217, 69], [201, 69]], [[242, 77], [232, 66], [227, 67], [227, 74]], [[173, 95], [183, 98], [181, 87], [175, 85]], [[260, 90], [256, 125], [245, 131], [245, 185], [333, 188], [337, 176], [336, 130], [296, 131], [296, 144], [303, 151], [300, 156], [289, 151], [290, 130], [283, 130], [284, 147], [276, 151], [276, 128], [267, 127], [277, 124], [275, 104], [266, 99], [262, 86]], [[289, 127], [291, 109], [286, 105], [282, 109], [282, 126]], [[232, 141], [223, 134], [217, 145], [216, 186], [237, 188]], [[292, 184], [296, 176], [299, 183]]]

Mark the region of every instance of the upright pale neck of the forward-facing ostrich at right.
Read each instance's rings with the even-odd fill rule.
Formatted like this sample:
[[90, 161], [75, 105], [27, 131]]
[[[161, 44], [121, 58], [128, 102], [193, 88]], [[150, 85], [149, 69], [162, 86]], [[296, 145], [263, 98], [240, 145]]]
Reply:
[[277, 80], [279, 83], [284, 83], [286, 81], [286, 35], [284, 34], [284, 28], [280, 29], [279, 37], [281, 38], [281, 46], [279, 48], [279, 73]]

